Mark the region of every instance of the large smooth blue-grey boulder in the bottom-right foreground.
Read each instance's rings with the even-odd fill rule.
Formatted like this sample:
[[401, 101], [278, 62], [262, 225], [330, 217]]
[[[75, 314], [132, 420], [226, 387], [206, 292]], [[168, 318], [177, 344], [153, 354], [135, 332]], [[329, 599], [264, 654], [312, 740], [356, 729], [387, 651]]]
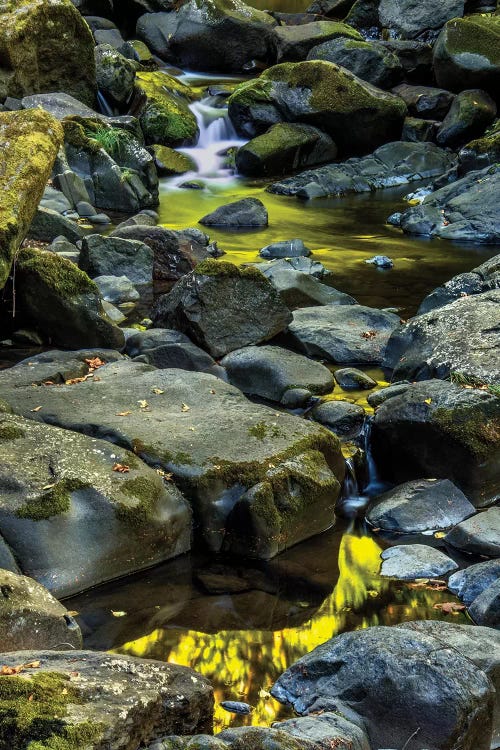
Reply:
[[422, 747], [490, 746], [494, 692], [486, 674], [411, 629], [343, 633], [299, 659], [271, 692], [300, 714], [360, 717], [373, 747], [402, 747], [417, 729]]

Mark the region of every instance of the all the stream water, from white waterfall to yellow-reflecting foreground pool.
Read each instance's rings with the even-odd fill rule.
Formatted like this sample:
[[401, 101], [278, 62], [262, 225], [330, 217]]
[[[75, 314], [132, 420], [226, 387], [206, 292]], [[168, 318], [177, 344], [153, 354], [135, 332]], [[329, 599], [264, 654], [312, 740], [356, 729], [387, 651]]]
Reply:
[[[297, 0], [296, 9], [304, 5]], [[183, 79], [198, 86], [214, 82], [206, 76]], [[241, 142], [220, 100], [207, 97], [192, 106], [200, 141], [183, 150], [197, 171], [162, 181], [160, 220], [171, 228], [198, 226], [204, 214], [223, 203], [249, 195], [261, 198], [269, 211], [269, 227], [239, 233], [210, 230], [227, 252], [226, 260], [255, 261], [269, 242], [300, 237], [335, 273], [340, 290], [364, 304], [397, 307], [406, 316], [440, 282], [500, 252], [498, 247], [409, 239], [386, 225], [386, 217], [401, 210], [402, 196], [413, 188], [306, 204], [266, 193], [264, 184], [242, 179], [228, 166], [228, 150]], [[203, 189], [182, 187], [193, 180]], [[393, 258], [394, 269], [380, 271], [364, 262], [376, 254]], [[378, 387], [385, 384], [383, 373], [369, 372]], [[336, 388], [328, 398], [366, 406], [366, 392]], [[86, 644], [199, 670], [215, 688], [218, 731], [286, 716], [269, 688], [287, 666], [331, 636], [440, 617], [434, 605], [453, 600], [449, 592], [426, 582], [404, 583], [379, 575], [382, 546], [391, 540], [374, 538], [360, 520], [370, 497], [384, 489], [371, 457], [369, 418], [362, 443], [361, 472], [355, 454], [346, 451], [341, 517], [331, 531], [270, 562], [240, 564], [185, 555], [75, 597], [67, 606], [79, 612]], [[425, 541], [442, 544], [439, 538]], [[453, 621], [465, 622], [465, 615], [457, 614]], [[254, 710], [249, 716], [228, 714], [219, 705], [228, 699], [246, 701]]]

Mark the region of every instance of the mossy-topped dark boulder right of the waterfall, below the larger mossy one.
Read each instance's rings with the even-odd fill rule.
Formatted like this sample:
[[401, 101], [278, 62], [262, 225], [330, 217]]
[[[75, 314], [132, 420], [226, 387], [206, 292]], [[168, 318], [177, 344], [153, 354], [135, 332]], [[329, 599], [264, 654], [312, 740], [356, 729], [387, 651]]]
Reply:
[[336, 156], [335, 143], [318, 128], [280, 122], [238, 150], [236, 168], [244, 175], [276, 176], [333, 161]]

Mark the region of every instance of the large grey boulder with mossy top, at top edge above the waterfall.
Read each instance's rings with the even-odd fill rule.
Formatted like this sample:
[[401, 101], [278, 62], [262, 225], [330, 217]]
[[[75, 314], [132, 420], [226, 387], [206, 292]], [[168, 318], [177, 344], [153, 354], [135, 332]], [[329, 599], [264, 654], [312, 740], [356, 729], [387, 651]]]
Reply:
[[189, 0], [174, 13], [146, 13], [137, 36], [158, 57], [191, 70], [240, 72], [246, 63], [274, 62], [277, 25], [241, 0]]

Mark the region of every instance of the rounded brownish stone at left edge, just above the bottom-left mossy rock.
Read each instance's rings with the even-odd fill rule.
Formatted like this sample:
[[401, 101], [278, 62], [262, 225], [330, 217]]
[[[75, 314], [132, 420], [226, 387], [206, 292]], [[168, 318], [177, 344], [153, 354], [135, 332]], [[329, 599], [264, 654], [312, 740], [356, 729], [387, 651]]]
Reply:
[[32, 578], [0, 569], [0, 592], [4, 651], [82, 647], [79, 625], [44, 586]]

